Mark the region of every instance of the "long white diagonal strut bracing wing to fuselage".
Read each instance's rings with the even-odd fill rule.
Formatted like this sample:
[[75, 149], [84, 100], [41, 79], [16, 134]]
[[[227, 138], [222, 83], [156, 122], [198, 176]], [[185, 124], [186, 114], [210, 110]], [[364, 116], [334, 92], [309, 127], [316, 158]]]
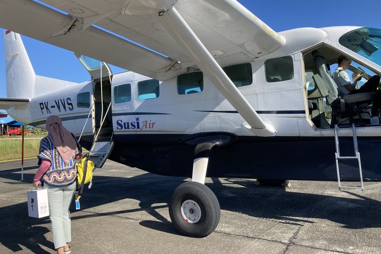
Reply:
[[157, 20], [243, 117], [247, 123], [243, 123], [242, 127], [246, 131], [257, 136], [275, 136], [276, 130], [271, 123], [263, 121], [246, 101], [175, 7], [160, 12]]

